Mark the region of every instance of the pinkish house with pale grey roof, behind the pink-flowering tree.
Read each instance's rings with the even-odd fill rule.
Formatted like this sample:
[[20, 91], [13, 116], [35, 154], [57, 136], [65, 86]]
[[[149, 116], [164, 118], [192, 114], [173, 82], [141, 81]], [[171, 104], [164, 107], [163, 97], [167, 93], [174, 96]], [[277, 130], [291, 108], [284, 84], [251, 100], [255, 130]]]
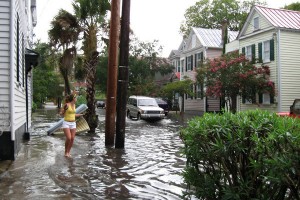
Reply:
[[[180, 79], [188, 77], [194, 81], [191, 86], [194, 96], [186, 95], [184, 111], [191, 114], [220, 111], [220, 99], [205, 97], [205, 88], [196, 81], [196, 69], [206, 59], [213, 59], [222, 55], [223, 30], [195, 28], [191, 29], [189, 36], [182, 41], [178, 50], [171, 51], [171, 60], [176, 72], [180, 72]], [[228, 31], [229, 41], [236, 39], [238, 32]], [[181, 105], [181, 104], [180, 104]]]

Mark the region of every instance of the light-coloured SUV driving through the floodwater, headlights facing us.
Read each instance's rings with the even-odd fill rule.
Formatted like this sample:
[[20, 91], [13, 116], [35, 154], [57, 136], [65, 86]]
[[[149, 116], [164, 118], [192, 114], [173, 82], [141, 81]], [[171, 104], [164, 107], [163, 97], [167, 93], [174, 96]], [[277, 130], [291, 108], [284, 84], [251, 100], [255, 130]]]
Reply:
[[156, 100], [146, 96], [130, 96], [127, 101], [127, 117], [157, 121], [165, 117], [164, 109], [158, 106]]

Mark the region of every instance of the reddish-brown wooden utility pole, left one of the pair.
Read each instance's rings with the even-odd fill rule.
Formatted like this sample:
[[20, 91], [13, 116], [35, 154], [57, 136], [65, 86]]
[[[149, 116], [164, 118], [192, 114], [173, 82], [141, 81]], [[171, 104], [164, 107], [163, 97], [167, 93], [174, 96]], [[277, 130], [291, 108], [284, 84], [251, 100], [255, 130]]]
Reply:
[[114, 145], [116, 96], [117, 96], [117, 67], [120, 36], [120, 0], [111, 1], [111, 18], [109, 31], [108, 72], [105, 114], [105, 146]]

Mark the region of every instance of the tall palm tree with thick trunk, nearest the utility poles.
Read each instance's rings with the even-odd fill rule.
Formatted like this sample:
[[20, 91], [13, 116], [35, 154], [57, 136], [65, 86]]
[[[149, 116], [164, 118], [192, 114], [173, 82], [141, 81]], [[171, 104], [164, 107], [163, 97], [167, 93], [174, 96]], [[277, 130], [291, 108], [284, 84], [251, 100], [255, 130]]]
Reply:
[[88, 110], [85, 118], [90, 126], [90, 131], [95, 132], [98, 119], [95, 112], [95, 82], [96, 66], [99, 61], [97, 51], [97, 34], [100, 28], [107, 27], [105, 16], [110, 9], [109, 0], [74, 0], [73, 8], [79, 23], [83, 28], [83, 51], [87, 91], [86, 99]]

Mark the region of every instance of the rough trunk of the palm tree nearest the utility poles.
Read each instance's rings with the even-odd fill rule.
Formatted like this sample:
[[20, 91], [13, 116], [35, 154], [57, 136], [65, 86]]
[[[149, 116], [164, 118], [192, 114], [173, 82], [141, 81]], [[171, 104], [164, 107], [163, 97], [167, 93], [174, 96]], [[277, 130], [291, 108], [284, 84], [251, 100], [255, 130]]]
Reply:
[[86, 100], [87, 100], [87, 112], [85, 114], [85, 119], [90, 127], [90, 132], [95, 133], [95, 129], [98, 126], [98, 116], [96, 116], [95, 111], [95, 82], [96, 82], [96, 66], [98, 63], [97, 51], [94, 51], [92, 55], [87, 59], [85, 69], [87, 70], [87, 88], [86, 88]]

